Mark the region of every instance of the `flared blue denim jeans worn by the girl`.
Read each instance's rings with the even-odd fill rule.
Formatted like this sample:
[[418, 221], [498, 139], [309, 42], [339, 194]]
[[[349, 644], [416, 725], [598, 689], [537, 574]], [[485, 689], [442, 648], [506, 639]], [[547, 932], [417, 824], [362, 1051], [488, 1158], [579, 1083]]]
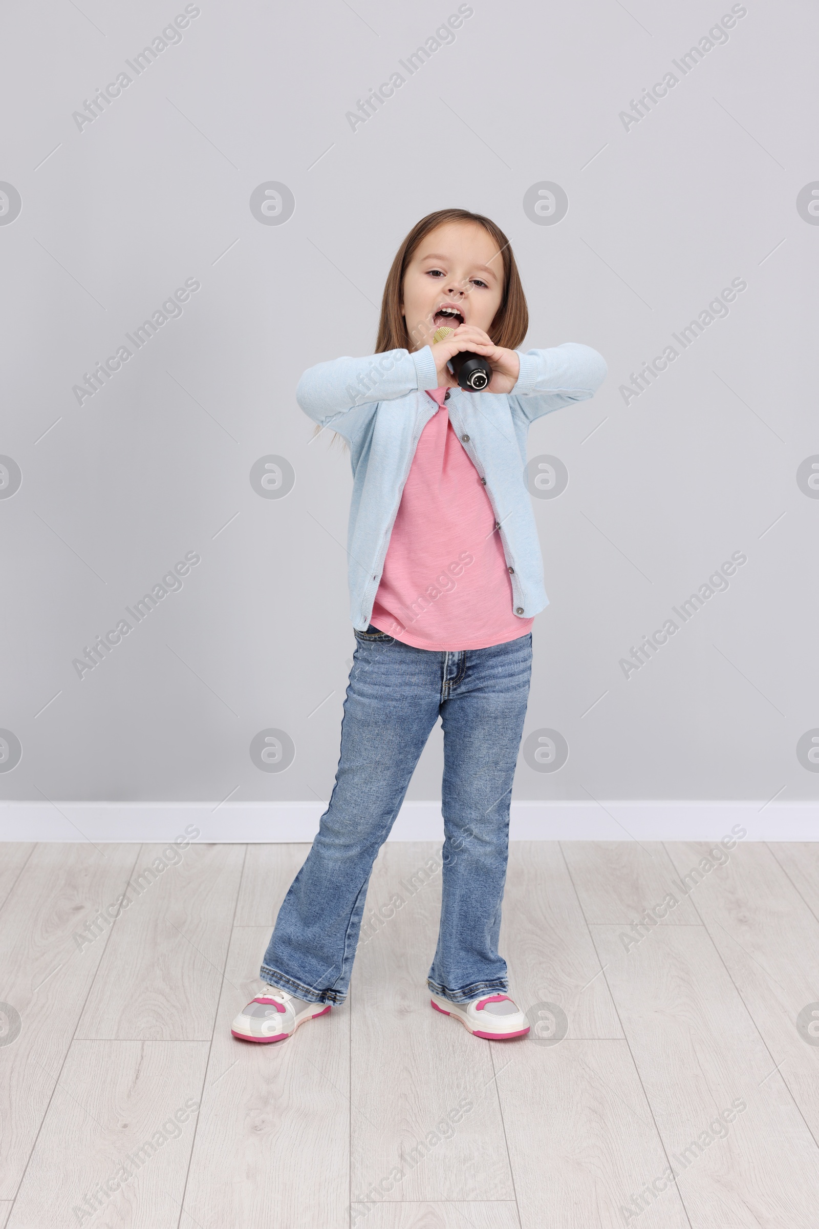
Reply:
[[260, 977], [309, 1003], [344, 1003], [372, 864], [441, 714], [442, 902], [427, 986], [453, 1003], [507, 991], [497, 939], [532, 633], [459, 653], [415, 649], [372, 624], [355, 637], [333, 794]]

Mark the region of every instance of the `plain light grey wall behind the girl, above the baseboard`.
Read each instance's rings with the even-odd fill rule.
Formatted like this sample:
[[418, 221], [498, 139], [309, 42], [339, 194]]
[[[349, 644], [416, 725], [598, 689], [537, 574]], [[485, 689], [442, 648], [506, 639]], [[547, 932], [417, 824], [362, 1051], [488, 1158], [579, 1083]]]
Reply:
[[[673, 60], [731, 4], [475, 0], [410, 76], [399, 61], [456, 2], [198, 7], [139, 76], [125, 61], [183, 4], [6, 11], [2, 796], [329, 796], [351, 476], [293, 392], [311, 364], [372, 353], [398, 243], [463, 205], [510, 235], [526, 348], [586, 342], [609, 365], [592, 402], [529, 438], [569, 482], [533, 499], [550, 606], [516, 796], [815, 798], [815, 9], [734, 6], [683, 75]], [[354, 130], [346, 113], [395, 71]], [[295, 199], [282, 224], [250, 208], [270, 182]], [[554, 224], [524, 208], [544, 182], [569, 199]], [[136, 350], [125, 334], [185, 279], [200, 289]], [[672, 334], [732, 279], [747, 289], [683, 350]], [[72, 386], [122, 344], [131, 358], [79, 404]], [[269, 456], [292, 467], [284, 498], [250, 483]], [[83, 646], [187, 552], [183, 587], [80, 678]], [[733, 552], [729, 587], [683, 624], [672, 607]], [[626, 677], [668, 618], [678, 633]], [[292, 740], [284, 772], [250, 757], [268, 729]], [[566, 741], [556, 772], [532, 755], [543, 730]], [[440, 796], [441, 763], [438, 729], [410, 799]]]

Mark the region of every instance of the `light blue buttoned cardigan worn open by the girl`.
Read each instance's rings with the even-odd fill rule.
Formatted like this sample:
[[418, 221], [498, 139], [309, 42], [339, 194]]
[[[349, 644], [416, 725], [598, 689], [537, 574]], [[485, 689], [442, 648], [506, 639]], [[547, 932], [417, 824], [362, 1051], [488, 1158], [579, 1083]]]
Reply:
[[[510, 393], [451, 391], [447, 409], [495, 510], [512, 581], [512, 608], [530, 618], [549, 605], [532, 501], [524, 482], [529, 424], [561, 406], [593, 397], [607, 375], [588, 345], [564, 342], [517, 351]], [[421, 431], [438, 412], [426, 396], [438, 385], [429, 345], [308, 367], [296, 399], [316, 423], [350, 444], [352, 498], [347, 526], [350, 618], [363, 632], [381, 581], [389, 536]]]

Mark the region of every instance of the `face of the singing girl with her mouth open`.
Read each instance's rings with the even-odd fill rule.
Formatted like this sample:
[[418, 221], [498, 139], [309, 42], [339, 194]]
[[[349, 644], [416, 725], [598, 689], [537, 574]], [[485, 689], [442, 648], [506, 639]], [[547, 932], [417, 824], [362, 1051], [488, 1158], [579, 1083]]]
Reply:
[[431, 343], [442, 324], [484, 333], [503, 297], [503, 258], [478, 222], [444, 222], [415, 248], [404, 273], [402, 315], [410, 350]]

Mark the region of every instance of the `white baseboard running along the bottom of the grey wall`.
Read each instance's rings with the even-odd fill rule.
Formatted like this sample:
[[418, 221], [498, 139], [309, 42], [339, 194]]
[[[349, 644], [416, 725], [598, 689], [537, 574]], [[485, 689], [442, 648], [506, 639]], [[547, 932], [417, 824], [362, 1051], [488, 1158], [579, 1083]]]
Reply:
[[[0, 803], [0, 841], [311, 842], [325, 803]], [[512, 803], [512, 841], [819, 841], [819, 803]], [[390, 841], [443, 841], [440, 803], [404, 803]]]

